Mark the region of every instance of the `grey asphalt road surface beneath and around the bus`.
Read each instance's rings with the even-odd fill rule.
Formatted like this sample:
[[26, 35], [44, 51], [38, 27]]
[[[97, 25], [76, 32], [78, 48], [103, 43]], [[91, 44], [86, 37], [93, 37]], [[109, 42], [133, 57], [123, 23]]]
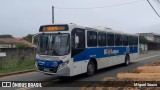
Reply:
[[[64, 83], [59, 83], [60, 81], [57, 79], [56, 76], [49, 76], [44, 75], [38, 72], [30, 72], [25, 74], [13, 75], [13, 76], [6, 76], [0, 78], [0, 81], [45, 81], [44, 85], [47, 87], [41, 88], [41, 90], [79, 90], [80, 87], [60, 87], [61, 84], [65, 86], [74, 85], [75, 81], [101, 81], [105, 77], [115, 77], [118, 73], [125, 73], [138, 66], [142, 66], [144, 64], [158, 61], [160, 60], [160, 51], [150, 51], [145, 54], [140, 54], [137, 60], [131, 62], [129, 66], [122, 66], [117, 65], [109, 68], [105, 68], [99, 70], [95, 75], [91, 77], [86, 77], [85, 75], [78, 75], [73, 78], [72, 80]], [[59, 87], [52, 87], [53, 85], [57, 85]], [[1, 88], [0, 88], [1, 89]], [[7, 89], [7, 88], [5, 88]], [[9, 88], [8, 88], [9, 89]], [[31, 89], [31, 88], [14, 88], [17, 90], [24, 90], [24, 89]], [[40, 88], [32, 88], [32, 90], [39, 90]]]

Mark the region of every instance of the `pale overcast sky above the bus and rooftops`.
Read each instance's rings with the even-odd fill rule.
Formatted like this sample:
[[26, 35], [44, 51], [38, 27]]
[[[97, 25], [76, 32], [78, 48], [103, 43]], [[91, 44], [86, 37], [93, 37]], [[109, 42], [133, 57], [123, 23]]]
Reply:
[[[150, 2], [160, 14], [160, 5]], [[160, 17], [147, 0], [0, 0], [0, 34], [38, 33], [41, 25], [52, 24], [52, 6], [55, 23], [160, 34]]]

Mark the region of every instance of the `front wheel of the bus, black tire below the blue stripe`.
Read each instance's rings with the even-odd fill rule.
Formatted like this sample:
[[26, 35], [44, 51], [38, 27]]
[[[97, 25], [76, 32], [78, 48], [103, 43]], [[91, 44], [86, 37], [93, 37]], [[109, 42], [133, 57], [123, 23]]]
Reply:
[[96, 67], [93, 61], [89, 61], [87, 65], [87, 76], [92, 76], [96, 71]]

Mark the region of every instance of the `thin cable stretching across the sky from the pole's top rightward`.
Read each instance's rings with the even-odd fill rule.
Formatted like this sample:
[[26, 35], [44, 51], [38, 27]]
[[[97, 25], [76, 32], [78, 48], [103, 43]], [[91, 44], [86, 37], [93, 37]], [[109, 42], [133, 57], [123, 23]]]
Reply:
[[103, 7], [89, 7], [89, 8], [62, 8], [62, 7], [55, 7], [55, 8], [57, 8], [57, 9], [100, 9], [100, 8], [109, 8], [109, 7], [116, 7], [116, 6], [128, 5], [128, 4], [133, 4], [133, 3], [139, 3], [139, 2], [143, 2], [143, 1], [145, 1], [145, 0], [133, 1], [133, 2], [127, 2], [127, 3], [121, 3], [121, 4], [114, 4], [114, 5], [103, 6]]

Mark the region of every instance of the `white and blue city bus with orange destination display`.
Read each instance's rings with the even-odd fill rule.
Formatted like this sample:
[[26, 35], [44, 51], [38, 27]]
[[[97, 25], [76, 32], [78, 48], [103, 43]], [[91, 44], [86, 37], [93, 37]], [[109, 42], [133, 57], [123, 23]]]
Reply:
[[139, 37], [110, 28], [82, 27], [73, 23], [40, 26], [35, 67], [61, 77], [113, 65], [129, 65], [139, 54]]

